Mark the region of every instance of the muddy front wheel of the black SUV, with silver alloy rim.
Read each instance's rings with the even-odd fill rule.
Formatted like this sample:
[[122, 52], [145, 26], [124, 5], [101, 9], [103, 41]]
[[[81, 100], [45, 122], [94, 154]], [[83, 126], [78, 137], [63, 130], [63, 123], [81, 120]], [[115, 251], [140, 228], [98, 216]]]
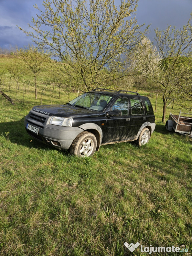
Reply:
[[71, 155], [78, 157], [90, 157], [95, 153], [97, 140], [90, 132], [80, 133], [71, 144], [69, 149]]

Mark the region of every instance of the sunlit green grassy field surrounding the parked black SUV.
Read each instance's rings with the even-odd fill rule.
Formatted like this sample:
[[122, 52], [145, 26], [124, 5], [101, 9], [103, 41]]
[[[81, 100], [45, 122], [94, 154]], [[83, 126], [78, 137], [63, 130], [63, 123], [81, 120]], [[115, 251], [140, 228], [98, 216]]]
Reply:
[[[33, 87], [16, 93], [5, 81], [3, 91], [15, 106], [0, 96], [0, 255], [146, 255], [125, 242], [192, 255], [192, 143], [165, 131], [160, 99], [147, 145], [105, 145], [81, 159], [27, 135], [24, 116], [40, 104]], [[42, 94], [42, 104], [69, 99]]]

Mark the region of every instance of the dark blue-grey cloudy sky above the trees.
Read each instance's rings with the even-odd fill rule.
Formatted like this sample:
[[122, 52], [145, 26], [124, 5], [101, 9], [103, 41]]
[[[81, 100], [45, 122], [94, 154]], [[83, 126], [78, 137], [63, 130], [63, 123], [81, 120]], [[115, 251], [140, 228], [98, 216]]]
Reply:
[[[42, 2], [43, 0], [0, 0], [1, 48], [20, 48], [32, 42], [16, 25], [27, 30], [27, 24], [32, 24], [32, 17], [36, 16], [33, 5], [37, 3], [41, 7]], [[118, 4], [118, 0], [115, 2]], [[168, 25], [182, 28], [191, 12], [192, 0], [139, 0], [136, 18], [138, 24], [151, 24], [148, 37], [153, 41], [155, 28], [165, 30]]]

